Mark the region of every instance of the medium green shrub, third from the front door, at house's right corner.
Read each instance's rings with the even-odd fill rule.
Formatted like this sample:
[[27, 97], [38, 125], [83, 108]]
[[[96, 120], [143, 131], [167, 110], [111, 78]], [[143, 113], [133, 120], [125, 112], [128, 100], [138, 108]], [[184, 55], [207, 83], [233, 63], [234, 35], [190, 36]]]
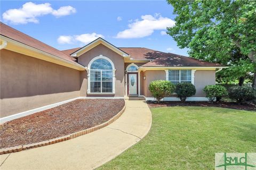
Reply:
[[219, 85], [208, 85], [204, 88], [204, 93], [206, 94], [206, 97], [209, 99], [209, 101], [219, 101], [222, 96], [225, 96], [228, 94], [227, 89], [223, 86]]

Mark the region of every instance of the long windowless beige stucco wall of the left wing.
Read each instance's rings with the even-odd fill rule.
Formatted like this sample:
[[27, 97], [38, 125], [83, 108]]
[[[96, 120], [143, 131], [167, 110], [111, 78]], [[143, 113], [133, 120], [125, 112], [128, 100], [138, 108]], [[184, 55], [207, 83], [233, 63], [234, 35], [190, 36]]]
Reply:
[[1, 117], [79, 97], [79, 71], [0, 51]]

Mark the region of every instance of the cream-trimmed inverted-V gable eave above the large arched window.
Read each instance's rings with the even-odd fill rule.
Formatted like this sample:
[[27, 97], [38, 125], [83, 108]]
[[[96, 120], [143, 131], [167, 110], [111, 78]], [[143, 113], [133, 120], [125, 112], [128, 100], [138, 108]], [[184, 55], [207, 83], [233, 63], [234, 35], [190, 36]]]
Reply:
[[85, 45], [84, 47], [76, 50], [75, 52], [71, 53], [70, 56], [73, 56], [73, 57], [79, 57], [81, 56], [82, 54], [88, 52], [90, 49], [98, 46], [99, 44], [102, 44], [106, 47], [108, 47], [109, 49], [113, 50], [114, 52], [116, 52], [117, 54], [123, 56], [123, 57], [130, 57], [129, 54], [125, 53], [123, 50], [117, 48], [116, 46], [108, 43], [108, 41], [102, 39], [102, 38], [97, 38], [95, 39], [94, 41], [92, 41], [91, 43]]

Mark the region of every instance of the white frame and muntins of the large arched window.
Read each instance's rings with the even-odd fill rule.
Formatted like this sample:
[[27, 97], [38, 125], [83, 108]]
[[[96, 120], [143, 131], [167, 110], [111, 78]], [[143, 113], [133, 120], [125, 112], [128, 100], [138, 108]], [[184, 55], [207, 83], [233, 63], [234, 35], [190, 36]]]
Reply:
[[[98, 60], [98, 59], [105, 59], [107, 60], [111, 66], [112, 66], [112, 92], [91, 92], [91, 65], [92, 63], [95, 61], [95, 60]], [[114, 66], [114, 63], [106, 56], [103, 56], [103, 55], [99, 55], [97, 57], [94, 57], [88, 64], [88, 67], [87, 67], [87, 94], [93, 94], [93, 95], [103, 95], [103, 94], [115, 94], [115, 81], [116, 81], [116, 76], [115, 76], [115, 72], [116, 72], [116, 69], [115, 69], [115, 66]], [[92, 69], [94, 70], [94, 69]], [[102, 70], [95, 70], [95, 71], [100, 71], [101, 72], [101, 80], [99, 82], [102, 82]], [[111, 70], [103, 70], [103, 71], [111, 71]], [[94, 82], [94, 81], [93, 81]], [[103, 82], [110, 82], [110, 81], [103, 81]], [[102, 91], [102, 84], [101, 84], [101, 87], [100, 87], [100, 91]]]

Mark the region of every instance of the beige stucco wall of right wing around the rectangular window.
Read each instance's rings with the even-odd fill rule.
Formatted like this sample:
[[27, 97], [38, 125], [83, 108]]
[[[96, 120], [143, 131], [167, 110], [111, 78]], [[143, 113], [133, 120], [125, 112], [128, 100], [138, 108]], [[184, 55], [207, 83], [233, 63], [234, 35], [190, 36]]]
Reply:
[[[148, 90], [149, 83], [155, 80], [165, 80], [165, 71], [145, 71], [143, 76], [146, 76], [146, 80], [143, 82], [143, 95], [146, 97], [153, 97], [151, 92]], [[194, 85], [196, 87], [196, 95], [191, 97], [205, 97], [203, 88], [206, 85], [215, 84], [215, 71], [214, 70], [197, 70], [195, 72]], [[174, 96], [172, 96], [174, 97]]]

